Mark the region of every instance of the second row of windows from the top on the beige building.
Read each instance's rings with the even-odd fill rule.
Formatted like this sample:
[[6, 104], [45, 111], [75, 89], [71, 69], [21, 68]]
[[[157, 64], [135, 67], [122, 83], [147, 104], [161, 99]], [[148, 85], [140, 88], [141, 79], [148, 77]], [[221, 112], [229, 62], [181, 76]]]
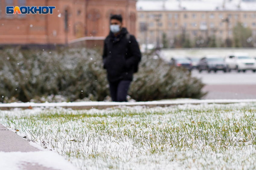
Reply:
[[[242, 23], [242, 24], [243, 24], [244, 27], [248, 27], [247, 22], [244, 22], [244, 23]], [[160, 23], [158, 23], [157, 25], [158, 25], [159, 27], [162, 27], [162, 26], [163, 26], [163, 23], [160, 22]], [[196, 22], [191, 22], [190, 25], [191, 25], [192, 27], [197, 27], [197, 23], [196, 23]], [[206, 23], [206, 22], [200, 22], [200, 25], [207, 26], [207, 23]], [[155, 26], [155, 23], [154, 23], [154, 22], [150, 22], [150, 23], [148, 24], [148, 26], [149, 26], [149, 27], [154, 27], [154, 26]], [[178, 24], [177, 22], [175, 22], [174, 24], [171, 23], [171, 22], [168, 23], [168, 27], [173, 27], [173, 26], [174, 26], [174, 27], [179, 27], [179, 24]], [[183, 27], [187, 27], [187, 26], [188, 26], [188, 24], [187, 24], [186, 22], [184, 22], [184, 23], [183, 23]], [[217, 26], [217, 25], [215, 25], [214, 22], [211, 22], [211, 23], [209, 23], [209, 26], [210, 26], [210, 28], [214, 28], [214, 27]], [[229, 23], [228, 26], [229, 26], [229, 28], [232, 28], [233, 26], [237, 26], [237, 22], [234, 23], [234, 24]], [[223, 22], [220, 22], [219, 27], [223, 27]], [[251, 27], [256, 27], [256, 22], [252, 22], [252, 23], [251, 23]]]

